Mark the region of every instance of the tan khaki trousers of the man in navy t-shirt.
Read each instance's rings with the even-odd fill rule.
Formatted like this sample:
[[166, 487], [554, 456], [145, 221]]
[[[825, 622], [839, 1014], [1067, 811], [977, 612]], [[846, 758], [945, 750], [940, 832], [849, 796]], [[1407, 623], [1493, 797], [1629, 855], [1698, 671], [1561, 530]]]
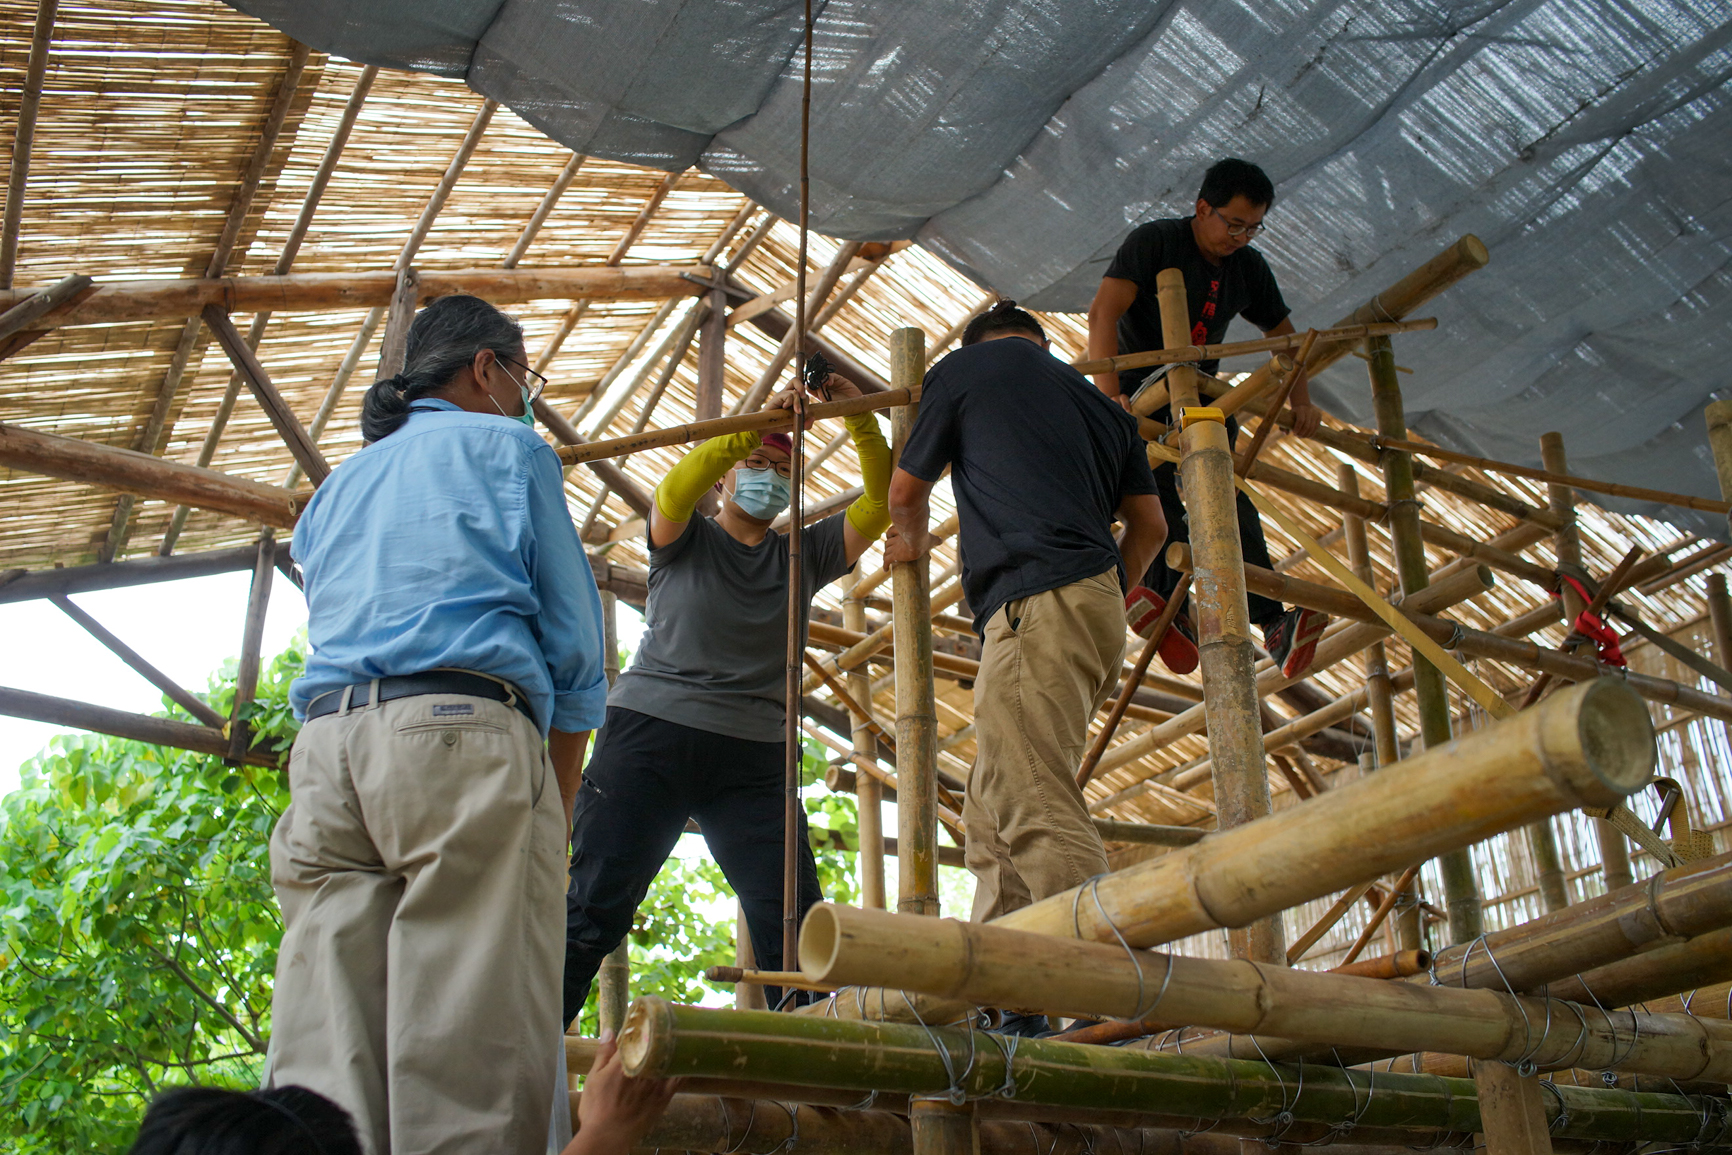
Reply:
[[1117, 571], [1020, 597], [992, 615], [975, 679], [975, 757], [963, 800], [973, 921], [1107, 869], [1076, 772], [1089, 719], [1124, 661]]

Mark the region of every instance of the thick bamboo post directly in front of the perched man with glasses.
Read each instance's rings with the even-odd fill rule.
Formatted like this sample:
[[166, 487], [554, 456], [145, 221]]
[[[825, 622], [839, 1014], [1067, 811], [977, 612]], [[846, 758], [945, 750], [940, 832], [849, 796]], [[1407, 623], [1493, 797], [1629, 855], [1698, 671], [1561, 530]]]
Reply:
[[[1167, 348], [1192, 343], [1185, 275], [1166, 268], [1155, 277], [1160, 300], [1160, 339]], [[1197, 405], [1197, 371], [1174, 365], [1167, 374], [1173, 419]], [[1181, 433], [1185, 457], [1185, 513], [1190, 521], [1193, 620], [1202, 665], [1204, 713], [1209, 720], [1209, 757], [1214, 805], [1221, 829], [1242, 826], [1270, 812], [1270, 779], [1263, 767], [1263, 720], [1257, 710], [1256, 649], [1251, 610], [1245, 604], [1245, 558], [1238, 547], [1238, 509], [1233, 488], [1233, 452], [1226, 426], [1195, 421]], [[1228, 932], [1235, 958], [1287, 963], [1278, 918]]]

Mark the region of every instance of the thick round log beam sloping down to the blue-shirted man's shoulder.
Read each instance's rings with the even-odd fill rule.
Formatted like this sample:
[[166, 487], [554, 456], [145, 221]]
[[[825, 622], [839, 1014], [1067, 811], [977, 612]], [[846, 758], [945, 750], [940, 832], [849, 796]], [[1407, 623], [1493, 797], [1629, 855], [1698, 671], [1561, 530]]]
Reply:
[[0, 466], [100, 485], [135, 497], [182, 502], [194, 509], [215, 509], [279, 530], [294, 525], [305, 500], [300, 494], [248, 478], [7, 423], [0, 423]]

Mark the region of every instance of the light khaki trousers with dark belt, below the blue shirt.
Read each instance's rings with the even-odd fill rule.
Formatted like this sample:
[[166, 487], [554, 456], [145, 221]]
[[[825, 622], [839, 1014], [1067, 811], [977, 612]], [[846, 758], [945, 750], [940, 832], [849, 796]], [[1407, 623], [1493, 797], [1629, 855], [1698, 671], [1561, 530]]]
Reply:
[[462, 694], [326, 715], [289, 791], [265, 1086], [338, 1101], [369, 1155], [546, 1152], [565, 810], [535, 726]]

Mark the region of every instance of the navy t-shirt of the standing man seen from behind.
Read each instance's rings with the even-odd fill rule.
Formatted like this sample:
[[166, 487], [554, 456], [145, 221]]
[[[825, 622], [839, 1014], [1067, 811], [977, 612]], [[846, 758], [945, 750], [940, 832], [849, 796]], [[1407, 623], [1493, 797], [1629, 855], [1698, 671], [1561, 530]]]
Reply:
[[1112, 540], [1121, 499], [1154, 494], [1136, 419], [1034, 341], [960, 348], [927, 372], [901, 468], [951, 468], [963, 592], [975, 632], [1006, 601], [1124, 565]]

